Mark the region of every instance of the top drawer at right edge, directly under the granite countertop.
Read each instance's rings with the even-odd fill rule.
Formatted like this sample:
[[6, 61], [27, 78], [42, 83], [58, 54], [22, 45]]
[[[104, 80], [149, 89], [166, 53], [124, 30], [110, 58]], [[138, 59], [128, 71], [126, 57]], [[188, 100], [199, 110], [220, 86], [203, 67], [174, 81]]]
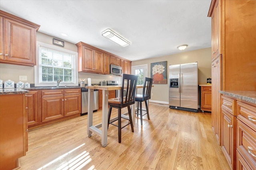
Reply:
[[237, 117], [256, 131], [256, 107], [237, 101]]

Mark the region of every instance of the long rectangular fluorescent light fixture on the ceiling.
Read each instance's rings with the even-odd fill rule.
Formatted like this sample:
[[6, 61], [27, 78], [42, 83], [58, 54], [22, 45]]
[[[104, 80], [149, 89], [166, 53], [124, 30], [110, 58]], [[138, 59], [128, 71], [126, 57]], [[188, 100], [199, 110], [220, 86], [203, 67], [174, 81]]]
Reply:
[[106, 37], [107, 39], [110, 39], [114, 43], [117, 43], [118, 45], [121, 45], [122, 47], [127, 47], [131, 43], [124, 39], [122, 36], [118, 35], [111, 29], [106, 29], [105, 31], [102, 32], [102, 36]]

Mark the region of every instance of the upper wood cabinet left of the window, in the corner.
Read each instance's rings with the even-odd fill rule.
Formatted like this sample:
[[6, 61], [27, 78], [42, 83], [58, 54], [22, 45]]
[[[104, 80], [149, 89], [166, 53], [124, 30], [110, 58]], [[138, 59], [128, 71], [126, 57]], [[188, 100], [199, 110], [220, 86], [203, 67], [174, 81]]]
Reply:
[[36, 65], [36, 31], [39, 27], [0, 10], [0, 63]]

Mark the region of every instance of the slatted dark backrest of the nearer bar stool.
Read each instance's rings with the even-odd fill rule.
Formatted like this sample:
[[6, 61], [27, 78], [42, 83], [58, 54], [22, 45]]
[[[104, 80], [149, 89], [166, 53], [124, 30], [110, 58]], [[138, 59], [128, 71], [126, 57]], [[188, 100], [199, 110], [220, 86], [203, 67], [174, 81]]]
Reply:
[[[121, 105], [128, 106], [135, 103], [135, 92], [137, 86], [138, 76], [131, 74], [123, 74], [121, 87]], [[124, 90], [126, 90], [124, 96]]]

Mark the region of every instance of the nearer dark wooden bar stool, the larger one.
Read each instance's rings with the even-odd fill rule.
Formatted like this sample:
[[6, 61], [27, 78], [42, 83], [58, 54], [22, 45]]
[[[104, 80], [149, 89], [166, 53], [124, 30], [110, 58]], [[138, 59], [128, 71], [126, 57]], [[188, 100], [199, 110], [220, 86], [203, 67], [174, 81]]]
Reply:
[[[134, 132], [133, 124], [132, 124], [132, 111], [131, 111], [130, 105], [135, 103], [135, 92], [136, 92], [137, 81], [138, 81], [138, 76], [130, 75], [130, 74], [123, 74], [120, 98], [112, 98], [112, 99], [108, 100], [108, 105], [110, 106], [109, 110], [108, 110], [108, 126], [109, 126], [109, 124], [112, 124], [112, 125], [118, 127], [118, 142], [119, 143], [121, 143], [121, 129], [122, 128], [124, 128], [130, 124], [131, 128], [132, 128], [132, 132]], [[124, 94], [125, 90], [126, 90], [126, 93]], [[110, 122], [110, 115], [111, 115], [112, 107], [118, 109], [118, 119], [117, 119], [118, 125], [113, 123], [116, 120]], [[126, 117], [126, 115], [121, 114], [121, 109], [124, 107], [128, 108], [129, 117]], [[126, 124], [122, 127], [121, 118], [129, 120], [128, 124]]]

